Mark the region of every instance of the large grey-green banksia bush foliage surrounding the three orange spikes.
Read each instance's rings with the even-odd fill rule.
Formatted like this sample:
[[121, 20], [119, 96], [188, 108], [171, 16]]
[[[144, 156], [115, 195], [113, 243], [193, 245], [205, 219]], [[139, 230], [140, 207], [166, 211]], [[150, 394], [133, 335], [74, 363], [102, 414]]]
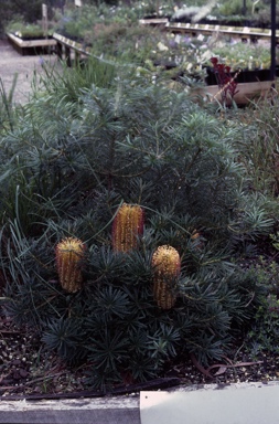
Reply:
[[[262, 295], [237, 266], [237, 246], [275, 218], [245, 190], [237, 127], [131, 67], [88, 66], [46, 68], [45, 91], [2, 132], [1, 268], [7, 312], [65, 361], [88, 361], [88, 383], [106, 390], [158, 377], [180, 354], [206, 364], [229, 349]], [[111, 248], [122, 202], [146, 215], [129, 254]], [[63, 237], [87, 247], [75, 294], [58, 282]], [[160, 245], [181, 257], [170, 310], [152, 293]]]

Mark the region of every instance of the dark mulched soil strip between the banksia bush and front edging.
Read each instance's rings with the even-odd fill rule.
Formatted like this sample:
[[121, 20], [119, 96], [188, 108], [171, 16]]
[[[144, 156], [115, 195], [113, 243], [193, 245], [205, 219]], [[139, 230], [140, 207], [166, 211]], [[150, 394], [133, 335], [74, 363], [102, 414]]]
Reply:
[[[3, 311], [0, 310], [2, 315]], [[68, 367], [42, 344], [30, 328], [18, 328], [11, 319], [0, 317], [1, 380], [0, 396], [6, 401], [23, 399], [81, 399], [100, 398], [106, 393], [88, 390], [86, 384], [88, 363]], [[115, 385], [109, 395], [139, 393], [142, 390], [193, 386], [197, 384], [275, 383], [278, 381], [279, 357], [261, 353], [251, 358], [243, 347], [235, 347], [235, 357], [224, 358], [210, 369], [200, 367], [194, 358], [180, 358], [169, 363], [161, 378], [143, 383]], [[0, 418], [1, 423], [1, 418]]]

